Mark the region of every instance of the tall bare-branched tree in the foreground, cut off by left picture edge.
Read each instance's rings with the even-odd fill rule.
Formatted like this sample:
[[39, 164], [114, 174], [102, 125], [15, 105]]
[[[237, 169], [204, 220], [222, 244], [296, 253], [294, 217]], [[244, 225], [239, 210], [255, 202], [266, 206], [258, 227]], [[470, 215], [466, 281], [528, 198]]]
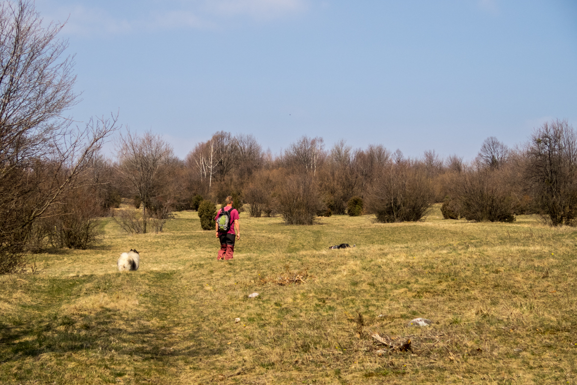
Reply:
[[62, 118], [77, 101], [62, 27], [44, 27], [31, 1], [0, 5], [0, 273], [23, 269], [33, 222], [90, 183], [89, 159], [115, 130], [114, 117], [85, 129]]

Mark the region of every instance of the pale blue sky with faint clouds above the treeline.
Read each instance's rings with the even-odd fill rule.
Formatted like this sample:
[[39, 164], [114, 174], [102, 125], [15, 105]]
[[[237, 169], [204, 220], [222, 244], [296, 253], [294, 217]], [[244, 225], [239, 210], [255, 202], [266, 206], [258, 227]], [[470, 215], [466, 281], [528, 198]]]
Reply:
[[36, 0], [68, 23], [77, 120], [119, 111], [183, 158], [219, 130], [467, 160], [577, 129], [574, 0]]

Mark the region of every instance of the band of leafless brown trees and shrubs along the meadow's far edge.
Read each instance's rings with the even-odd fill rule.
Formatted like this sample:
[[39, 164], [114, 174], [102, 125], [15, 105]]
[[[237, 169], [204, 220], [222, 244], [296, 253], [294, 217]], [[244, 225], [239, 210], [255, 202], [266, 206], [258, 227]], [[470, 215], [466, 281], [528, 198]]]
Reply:
[[[538, 213], [552, 225], [575, 220], [577, 141], [564, 120], [543, 124], [517, 149], [489, 137], [471, 162], [434, 150], [406, 158], [382, 145], [353, 149], [345, 141], [326, 149], [323, 138], [307, 136], [273, 157], [252, 135], [224, 131], [197, 144], [185, 160], [151, 133], [121, 142], [117, 160], [103, 163], [110, 178], [105, 195], [115, 197], [108, 207], [136, 198], [151, 211], [196, 210], [201, 200], [222, 204], [232, 195], [239, 208], [248, 203], [250, 216], [280, 214], [287, 224], [312, 224], [317, 216], [346, 214], [355, 198], [361, 213], [382, 222], [419, 220], [441, 202], [445, 218], [508, 222]], [[158, 172], [148, 191], [138, 190], [130, 172], [143, 169], [134, 164], [138, 158], [148, 163], [154, 153], [163, 154]]]

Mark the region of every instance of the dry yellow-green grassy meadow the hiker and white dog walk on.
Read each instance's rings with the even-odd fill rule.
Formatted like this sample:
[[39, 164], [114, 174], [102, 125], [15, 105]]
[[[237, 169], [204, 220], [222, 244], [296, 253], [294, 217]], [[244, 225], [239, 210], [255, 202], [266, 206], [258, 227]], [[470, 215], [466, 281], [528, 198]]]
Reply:
[[[0, 277], [0, 383], [577, 384], [574, 228], [241, 213], [230, 262], [196, 212], [102, 231]], [[118, 273], [130, 248], [140, 269]]]

